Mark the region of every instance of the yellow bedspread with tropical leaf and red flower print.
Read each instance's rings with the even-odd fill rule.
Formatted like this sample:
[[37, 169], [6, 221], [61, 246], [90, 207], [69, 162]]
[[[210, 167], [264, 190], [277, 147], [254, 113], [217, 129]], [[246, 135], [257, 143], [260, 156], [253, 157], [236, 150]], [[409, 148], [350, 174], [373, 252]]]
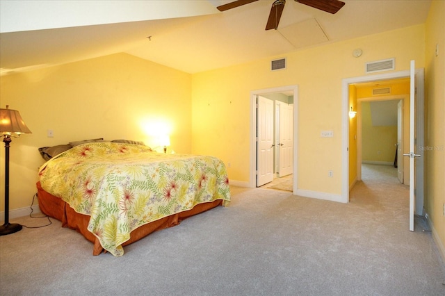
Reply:
[[159, 154], [143, 145], [94, 142], [51, 158], [42, 188], [90, 215], [88, 231], [114, 256], [130, 232], [196, 204], [230, 200], [225, 165], [212, 156]]

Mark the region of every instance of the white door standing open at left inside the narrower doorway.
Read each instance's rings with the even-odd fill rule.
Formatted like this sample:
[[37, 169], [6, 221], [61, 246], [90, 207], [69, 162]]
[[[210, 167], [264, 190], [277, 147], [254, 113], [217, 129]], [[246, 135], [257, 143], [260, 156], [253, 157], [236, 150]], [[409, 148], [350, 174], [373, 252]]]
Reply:
[[257, 99], [257, 187], [273, 181], [273, 101]]

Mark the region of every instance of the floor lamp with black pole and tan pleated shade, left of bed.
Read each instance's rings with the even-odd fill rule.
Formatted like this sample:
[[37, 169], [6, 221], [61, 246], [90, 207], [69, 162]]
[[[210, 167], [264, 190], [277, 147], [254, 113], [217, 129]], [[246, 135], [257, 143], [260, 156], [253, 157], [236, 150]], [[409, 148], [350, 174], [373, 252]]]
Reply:
[[6, 105], [6, 109], [0, 109], [0, 133], [5, 142], [5, 223], [0, 226], [0, 236], [22, 230], [22, 225], [9, 222], [9, 147], [11, 135], [19, 138], [22, 133], [31, 133], [19, 111], [8, 107]]

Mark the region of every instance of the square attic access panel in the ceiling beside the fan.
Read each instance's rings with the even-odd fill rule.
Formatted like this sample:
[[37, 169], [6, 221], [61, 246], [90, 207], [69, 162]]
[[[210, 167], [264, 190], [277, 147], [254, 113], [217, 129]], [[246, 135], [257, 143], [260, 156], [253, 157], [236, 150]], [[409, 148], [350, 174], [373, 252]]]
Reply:
[[284, 28], [277, 28], [277, 31], [296, 49], [329, 41], [316, 19], [307, 19]]

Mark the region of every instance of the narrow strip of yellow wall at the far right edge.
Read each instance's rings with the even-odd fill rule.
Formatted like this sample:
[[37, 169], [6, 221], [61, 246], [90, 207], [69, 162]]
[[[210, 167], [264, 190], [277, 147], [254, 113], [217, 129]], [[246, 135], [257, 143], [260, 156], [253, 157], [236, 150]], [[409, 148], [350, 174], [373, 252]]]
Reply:
[[[426, 22], [426, 198], [432, 234], [445, 261], [445, 1], [432, 1]], [[436, 44], [439, 55], [436, 56]]]

